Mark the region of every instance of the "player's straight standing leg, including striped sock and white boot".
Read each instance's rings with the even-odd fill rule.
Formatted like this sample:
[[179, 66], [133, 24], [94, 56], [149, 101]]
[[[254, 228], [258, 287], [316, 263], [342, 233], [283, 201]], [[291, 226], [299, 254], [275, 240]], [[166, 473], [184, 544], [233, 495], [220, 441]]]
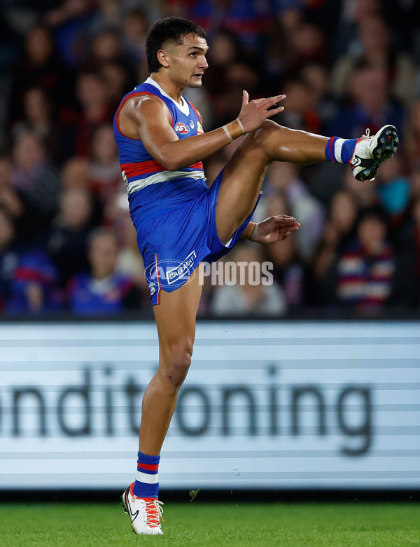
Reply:
[[153, 307], [159, 335], [159, 368], [148, 384], [141, 407], [136, 480], [123, 494], [123, 507], [137, 534], [162, 534], [162, 504], [158, 501], [160, 449], [193, 354], [195, 318], [202, 293], [197, 270], [174, 292], [162, 291], [160, 304]]

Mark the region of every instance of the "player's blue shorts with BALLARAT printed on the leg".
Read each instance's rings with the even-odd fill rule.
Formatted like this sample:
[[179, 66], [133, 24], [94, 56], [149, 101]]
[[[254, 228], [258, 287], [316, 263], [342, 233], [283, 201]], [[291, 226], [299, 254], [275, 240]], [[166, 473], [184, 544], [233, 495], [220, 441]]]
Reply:
[[251, 220], [256, 204], [228, 245], [223, 245], [216, 229], [222, 177], [223, 170], [201, 196], [134, 224], [153, 306], [159, 304], [161, 290], [172, 292], [184, 285], [200, 262], [216, 262], [226, 255]]

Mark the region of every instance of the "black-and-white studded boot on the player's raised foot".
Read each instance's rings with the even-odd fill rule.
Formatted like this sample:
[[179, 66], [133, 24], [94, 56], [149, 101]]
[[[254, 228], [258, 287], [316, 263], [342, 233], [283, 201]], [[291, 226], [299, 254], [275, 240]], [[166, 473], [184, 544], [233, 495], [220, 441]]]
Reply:
[[370, 136], [370, 130], [360, 137], [354, 147], [350, 165], [357, 180], [374, 180], [379, 167], [392, 158], [398, 148], [398, 131], [394, 126], [384, 126]]

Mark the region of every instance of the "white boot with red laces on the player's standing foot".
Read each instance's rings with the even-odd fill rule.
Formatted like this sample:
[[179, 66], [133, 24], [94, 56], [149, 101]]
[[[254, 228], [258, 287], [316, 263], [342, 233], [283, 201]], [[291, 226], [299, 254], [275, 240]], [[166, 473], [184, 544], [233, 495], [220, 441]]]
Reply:
[[151, 536], [162, 535], [163, 532], [160, 527], [160, 519], [163, 513], [162, 501], [151, 498], [138, 498], [134, 496], [132, 487], [133, 485], [130, 485], [125, 490], [121, 499], [121, 505], [125, 513], [130, 515], [133, 532], [135, 534], [148, 534]]

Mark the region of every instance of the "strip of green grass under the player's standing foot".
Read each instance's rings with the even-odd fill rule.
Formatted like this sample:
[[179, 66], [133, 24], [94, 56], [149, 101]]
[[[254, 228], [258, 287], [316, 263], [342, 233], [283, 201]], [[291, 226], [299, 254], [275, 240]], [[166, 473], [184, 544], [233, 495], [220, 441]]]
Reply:
[[111, 504], [0, 505], [0, 546], [420, 546], [418, 504], [168, 504], [135, 536]]

